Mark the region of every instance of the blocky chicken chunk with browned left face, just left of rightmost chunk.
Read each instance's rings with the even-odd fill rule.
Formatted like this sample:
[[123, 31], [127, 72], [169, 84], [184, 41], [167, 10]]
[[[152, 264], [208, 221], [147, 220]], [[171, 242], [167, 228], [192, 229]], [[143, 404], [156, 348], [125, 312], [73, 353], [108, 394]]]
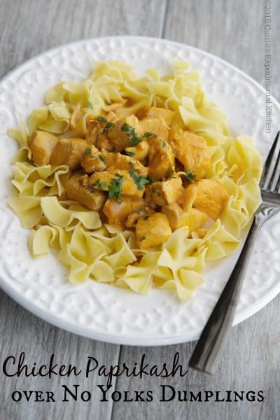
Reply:
[[171, 178], [167, 181], [154, 182], [145, 190], [145, 195], [150, 196], [151, 200], [159, 206], [165, 204], [172, 204], [179, 199], [182, 193], [182, 180], [181, 178]]

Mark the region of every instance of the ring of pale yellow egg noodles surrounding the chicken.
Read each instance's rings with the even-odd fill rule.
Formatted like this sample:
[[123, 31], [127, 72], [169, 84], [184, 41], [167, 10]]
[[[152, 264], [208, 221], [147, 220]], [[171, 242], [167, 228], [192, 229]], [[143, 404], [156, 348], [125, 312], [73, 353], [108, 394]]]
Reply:
[[[208, 228], [189, 235], [184, 226], [162, 246], [140, 249], [133, 230], [104, 223], [98, 211], [67, 200], [69, 167], [34, 165], [29, 148], [34, 130], [85, 138], [87, 122], [116, 102], [124, 104], [116, 109], [118, 118], [149, 106], [172, 110], [177, 125], [207, 141], [211, 164], [206, 178], [219, 181], [230, 196], [221, 216]], [[188, 71], [186, 62], [174, 62], [174, 72], [167, 76], [150, 69], [142, 78], [123, 62], [95, 62], [90, 78], [52, 87], [45, 105], [31, 112], [27, 129], [22, 124], [8, 133], [20, 145], [12, 169], [17, 196], [8, 204], [22, 227], [31, 229], [31, 255], [45, 255], [55, 248], [59, 261], [69, 267], [71, 283], [90, 278], [141, 294], [155, 285], [188, 300], [204, 281], [205, 261], [219, 260], [237, 249], [241, 230], [260, 205], [261, 159], [253, 140], [230, 136], [225, 114], [207, 99], [199, 73]]]

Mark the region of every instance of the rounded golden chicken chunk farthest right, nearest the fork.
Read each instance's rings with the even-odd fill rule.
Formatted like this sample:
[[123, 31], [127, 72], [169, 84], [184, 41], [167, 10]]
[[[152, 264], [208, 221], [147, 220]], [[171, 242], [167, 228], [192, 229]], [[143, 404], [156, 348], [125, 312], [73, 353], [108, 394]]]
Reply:
[[203, 211], [216, 221], [228, 201], [228, 190], [214, 179], [201, 179], [186, 188], [190, 195], [195, 195], [193, 207]]

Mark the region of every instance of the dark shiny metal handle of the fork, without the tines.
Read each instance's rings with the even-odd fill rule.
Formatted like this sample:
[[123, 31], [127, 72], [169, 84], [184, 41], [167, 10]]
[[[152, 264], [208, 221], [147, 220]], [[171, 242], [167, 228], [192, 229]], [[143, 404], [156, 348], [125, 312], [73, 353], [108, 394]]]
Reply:
[[258, 232], [259, 224], [255, 218], [246, 237], [235, 268], [230, 274], [230, 279], [214, 307], [209, 321], [202, 331], [202, 335], [195, 346], [190, 358], [189, 366], [206, 373], [214, 373], [218, 360], [221, 357], [225, 343], [235, 316], [238, 297], [252, 251], [252, 242]]

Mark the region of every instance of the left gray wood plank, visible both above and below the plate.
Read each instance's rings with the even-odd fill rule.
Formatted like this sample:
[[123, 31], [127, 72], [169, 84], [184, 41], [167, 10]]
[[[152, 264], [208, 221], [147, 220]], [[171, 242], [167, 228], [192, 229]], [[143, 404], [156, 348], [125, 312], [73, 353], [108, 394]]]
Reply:
[[[80, 38], [109, 35], [160, 36], [167, 1], [154, 0], [2, 0], [0, 1], [0, 77], [21, 62], [48, 48]], [[94, 356], [99, 363], [118, 362], [120, 346], [104, 344], [64, 332], [36, 318], [0, 291], [0, 359], [25, 351], [29, 363], [85, 363]], [[15, 389], [59, 390], [62, 384], [80, 384], [94, 390], [97, 377], [78, 380], [6, 378], [1, 375], [1, 420], [109, 419], [112, 400], [99, 402], [12, 402]], [[113, 387], [115, 381], [112, 382]], [[60, 398], [60, 397], [59, 397]]]

